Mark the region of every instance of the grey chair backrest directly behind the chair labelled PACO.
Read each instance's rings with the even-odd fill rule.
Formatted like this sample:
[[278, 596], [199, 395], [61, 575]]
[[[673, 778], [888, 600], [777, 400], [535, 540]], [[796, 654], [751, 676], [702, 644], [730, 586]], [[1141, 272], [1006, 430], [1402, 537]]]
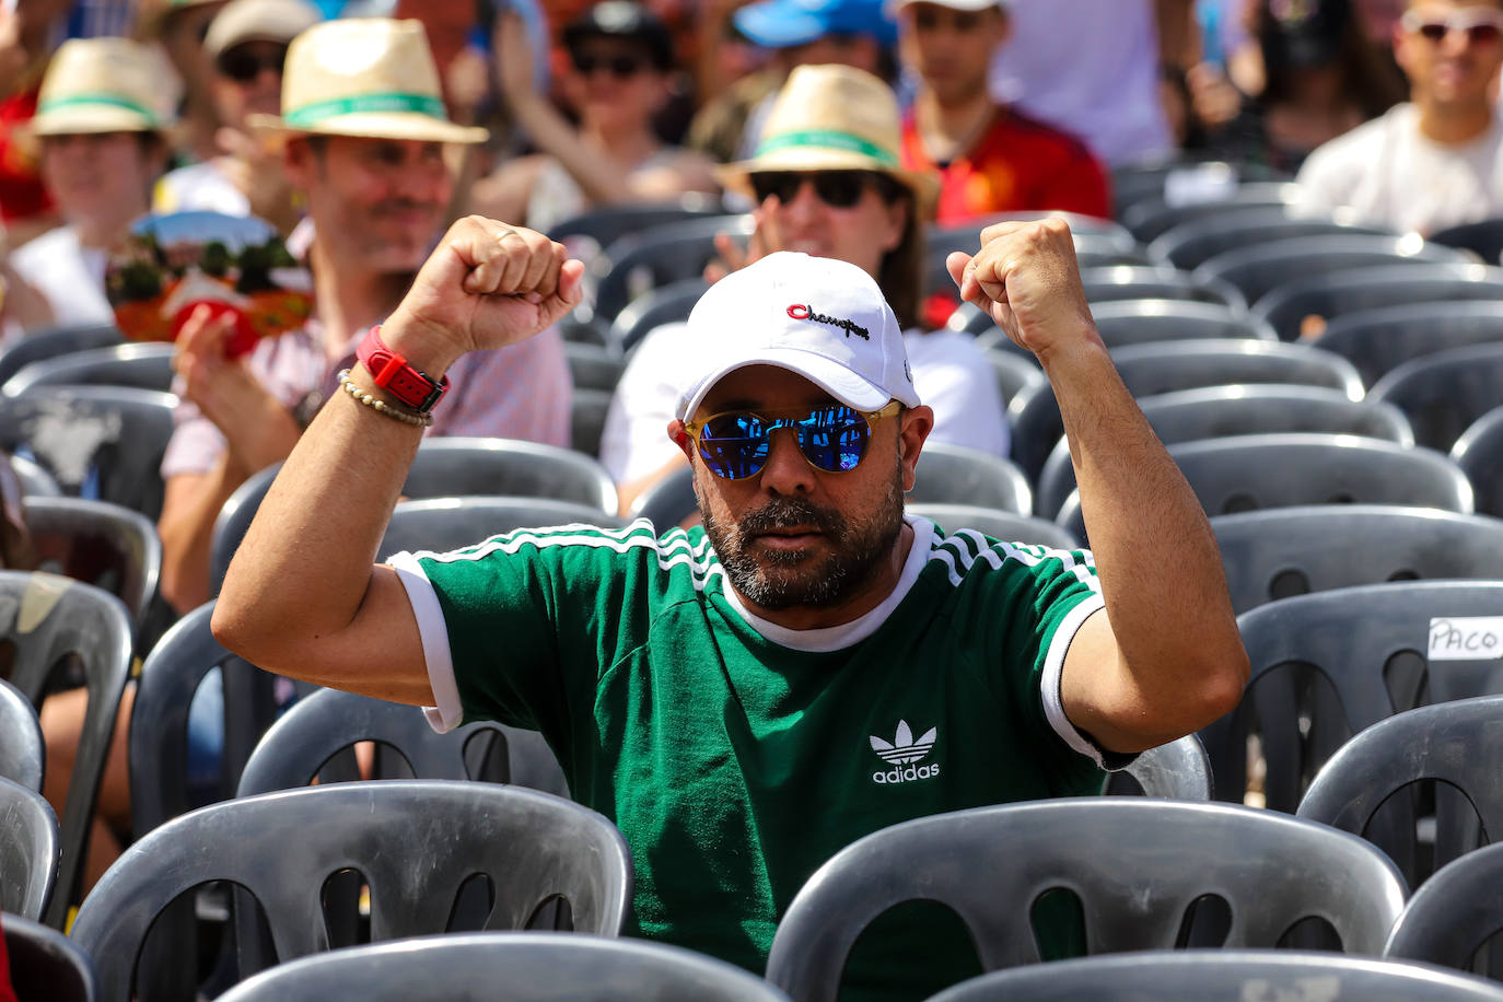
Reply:
[[1503, 520], [1393, 505], [1297, 505], [1216, 515], [1237, 613], [1359, 584], [1489, 580], [1503, 568]]

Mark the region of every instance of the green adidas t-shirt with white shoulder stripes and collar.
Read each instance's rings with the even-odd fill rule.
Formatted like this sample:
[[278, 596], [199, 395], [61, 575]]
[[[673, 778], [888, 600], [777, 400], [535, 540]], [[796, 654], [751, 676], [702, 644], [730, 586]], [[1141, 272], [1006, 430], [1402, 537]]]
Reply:
[[[789, 901], [857, 838], [1102, 789], [1060, 705], [1066, 647], [1102, 607], [1090, 554], [909, 524], [893, 595], [812, 631], [752, 614], [702, 529], [534, 529], [391, 563], [434, 726], [541, 730], [631, 846], [627, 931], [761, 973]], [[914, 963], [951, 963], [897, 925], [848, 982], [893, 994]]]

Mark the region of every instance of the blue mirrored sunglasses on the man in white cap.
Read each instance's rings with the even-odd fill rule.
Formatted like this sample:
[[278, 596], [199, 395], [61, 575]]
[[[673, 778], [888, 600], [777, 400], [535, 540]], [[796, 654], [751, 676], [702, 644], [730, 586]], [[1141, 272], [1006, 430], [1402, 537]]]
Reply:
[[873, 412], [845, 404], [783, 415], [727, 410], [685, 422], [684, 430], [694, 439], [709, 472], [721, 479], [744, 481], [761, 473], [779, 428], [792, 428], [798, 451], [816, 470], [848, 473], [866, 458], [872, 425], [899, 410], [902, 404], [896, 400]]

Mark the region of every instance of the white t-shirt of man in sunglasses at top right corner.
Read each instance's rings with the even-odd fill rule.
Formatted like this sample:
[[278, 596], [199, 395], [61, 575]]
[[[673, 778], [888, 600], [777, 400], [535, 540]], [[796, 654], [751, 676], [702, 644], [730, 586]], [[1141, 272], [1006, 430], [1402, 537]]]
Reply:
[[1419, 131], [1419, 108], [1395, 105], [1311, 153], [1296, 180], [1302, 212], [1348, 206], [1401, 233], [1503, 215], [1503, 119], [1470, 143], [1443, 146]]

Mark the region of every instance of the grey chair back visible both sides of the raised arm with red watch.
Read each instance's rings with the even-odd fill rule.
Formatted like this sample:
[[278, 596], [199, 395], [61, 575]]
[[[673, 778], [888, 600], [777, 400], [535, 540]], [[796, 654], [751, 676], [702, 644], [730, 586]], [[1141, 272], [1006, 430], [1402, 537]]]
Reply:
[[[236, 547], [256, 518], [281, 464], [256, 473], [230, 496], [213, 523], [209, 581], [218, 595]], [[425, 439], [401, 487], [403, 497], [491, 494], [541, 497], [616, 512], [616, 485], [598, 460], [558, 446], [516, 439]]]

